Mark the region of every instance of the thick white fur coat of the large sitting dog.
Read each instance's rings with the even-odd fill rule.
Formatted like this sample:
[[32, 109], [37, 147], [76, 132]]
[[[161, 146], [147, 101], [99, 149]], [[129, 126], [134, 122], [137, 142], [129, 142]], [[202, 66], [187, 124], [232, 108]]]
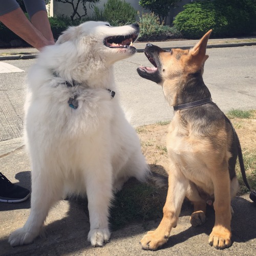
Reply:
[[[103, 22], [71, 27], [45, 48], [29, 72], [25, 138], [32, 161], [31, 212], [24, 227], [11, 234], [12, 246], [31, 243], [63, 195], [85, 193], [88, 239], [101, 246], [110, 238], [114, 191], [129, 177], [143, 181], [149, 172], [139, 138], [120, 108], [112, 67], [136, 49], [127, 39], [126, 47], [106, 46], [105, 38], [117, 35], [136, 39], [138, 27]], [[114, 98], [108, 89], [116, 91]], [[77, 109], [68, 104], [74, 95]]]

